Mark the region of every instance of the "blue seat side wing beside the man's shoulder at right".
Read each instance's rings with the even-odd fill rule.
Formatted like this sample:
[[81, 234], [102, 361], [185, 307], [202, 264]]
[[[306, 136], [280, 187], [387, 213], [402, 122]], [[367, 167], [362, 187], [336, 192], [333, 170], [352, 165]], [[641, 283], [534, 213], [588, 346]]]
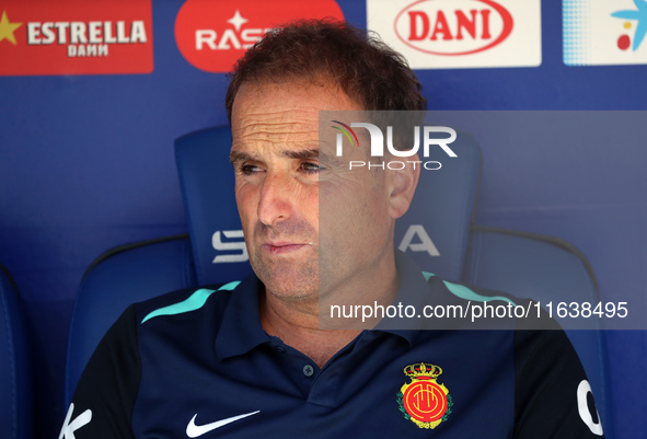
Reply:
[[536, 233], [473, 227], [463, 281], [517, 297], [552, 303], [553, 317], [564, 327], [587, 372], [606, 438], [611, 427], [611, 398], [604, 334], [599, 319], [568, 319], [558, 303], [599, 303], [593, 270], [570, 243]]

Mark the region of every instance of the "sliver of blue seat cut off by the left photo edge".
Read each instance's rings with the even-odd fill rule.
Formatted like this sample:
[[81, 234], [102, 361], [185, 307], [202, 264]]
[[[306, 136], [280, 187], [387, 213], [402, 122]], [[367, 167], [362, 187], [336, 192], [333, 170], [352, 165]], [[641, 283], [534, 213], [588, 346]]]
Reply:
[[33, 437], [33, 389], [30, 343], [18, 296], [0, 265], [0, 425], [2, 437]]

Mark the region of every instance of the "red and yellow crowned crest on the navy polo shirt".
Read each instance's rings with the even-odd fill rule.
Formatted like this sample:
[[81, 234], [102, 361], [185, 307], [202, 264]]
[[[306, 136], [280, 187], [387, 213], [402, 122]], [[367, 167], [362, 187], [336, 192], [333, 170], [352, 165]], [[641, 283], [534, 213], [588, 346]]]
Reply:
[[427, 362], [404, 368], [412, 382], [400, 388], [397, 404], [405, 419], [420, 428], [436, 428], [451, 413], [453, 402], [449, 390], [437, 380], [441, 373], [441, 368]]

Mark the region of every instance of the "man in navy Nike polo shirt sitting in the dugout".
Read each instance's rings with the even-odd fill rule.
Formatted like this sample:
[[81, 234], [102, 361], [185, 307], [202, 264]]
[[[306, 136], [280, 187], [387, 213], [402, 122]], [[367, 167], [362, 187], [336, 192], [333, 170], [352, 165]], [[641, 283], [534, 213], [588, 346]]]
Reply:
[[425, 107], [403, 59], [344, 23], [297, 23], [251, 48], [227, 108], [255, 275], [130, 307], [61, 438], [602, 436], [561, 331], [321, 327], [322, 303], [462, 303], [393, 247], [419, 167], [349, 170], [320, 141], [320, 111]]

